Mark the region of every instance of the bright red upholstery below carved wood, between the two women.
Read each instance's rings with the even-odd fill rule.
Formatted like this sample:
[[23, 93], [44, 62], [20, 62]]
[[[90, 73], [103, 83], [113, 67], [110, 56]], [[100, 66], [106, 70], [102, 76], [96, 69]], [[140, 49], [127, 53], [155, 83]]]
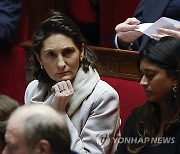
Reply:
[[131, 114], [132, 109], [141, 105], [145, 101], [145, 94], [139, 82], [123, 80], [119, 78], [101, 77], [102, 80], [108, 82], [114, 87], [120, 97], [120, 117], [121, 117], [121, 131], [123, 130], [124, 122], [128, 115]]

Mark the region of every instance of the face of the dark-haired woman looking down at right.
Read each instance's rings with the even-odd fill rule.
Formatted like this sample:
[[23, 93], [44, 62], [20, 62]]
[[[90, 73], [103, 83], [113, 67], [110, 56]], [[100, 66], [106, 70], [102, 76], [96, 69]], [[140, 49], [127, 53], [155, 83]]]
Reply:
[[140, 71], [142, 74], [140, 85], [144, 87], [147, 100], [158, 103], [169, 100], [172, 88], [176, 85], [175, 77], [168, 76], [165, 69], [147, 59], [142, 59]]

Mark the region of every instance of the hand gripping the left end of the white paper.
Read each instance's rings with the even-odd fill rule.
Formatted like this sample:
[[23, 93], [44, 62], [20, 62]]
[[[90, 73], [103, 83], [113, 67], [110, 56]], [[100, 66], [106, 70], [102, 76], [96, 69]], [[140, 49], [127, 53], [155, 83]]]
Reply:
[[138, 24], [140, 24], [140, 21], [133, 17], [128, 18], [125, 22], [120, 23], [115, 27], [118, 43], [121, 46], [128, 46], [143, 35], [143, 33], [135, 30], [139, 28]]

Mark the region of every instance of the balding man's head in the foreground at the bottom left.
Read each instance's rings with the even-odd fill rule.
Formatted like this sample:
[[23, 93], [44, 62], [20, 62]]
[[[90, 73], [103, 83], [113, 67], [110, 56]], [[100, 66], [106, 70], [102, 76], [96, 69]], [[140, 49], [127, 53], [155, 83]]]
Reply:
[[71, 154], [63, 116], [44, 104], [24, 105], [7, 123], [3, 154]]

